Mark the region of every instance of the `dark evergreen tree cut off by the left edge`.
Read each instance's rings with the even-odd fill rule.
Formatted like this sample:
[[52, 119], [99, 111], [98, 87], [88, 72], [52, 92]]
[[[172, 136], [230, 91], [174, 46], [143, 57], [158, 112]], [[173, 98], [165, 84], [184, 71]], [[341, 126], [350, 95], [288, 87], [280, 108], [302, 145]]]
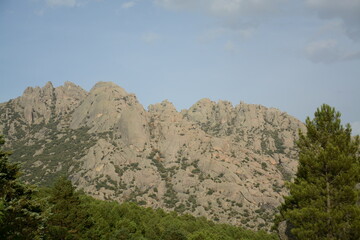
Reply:
[[[3, 144], [0, 136], [0, 146]], [[19, 166], [9, 163], [9, 155], [0, 149], [0, 236], [37, 239], [42, 225], [41, 209], [33, 200], [33, 188], [19, 181]]]

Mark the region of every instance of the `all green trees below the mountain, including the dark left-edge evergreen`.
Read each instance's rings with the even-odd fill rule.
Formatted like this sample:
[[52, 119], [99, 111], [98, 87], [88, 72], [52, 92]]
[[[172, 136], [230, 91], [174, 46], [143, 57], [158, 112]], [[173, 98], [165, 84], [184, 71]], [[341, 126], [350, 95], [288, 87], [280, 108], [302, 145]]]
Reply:
[[8, 155], [0, 151], [1, 239], [277, 239], [205, 218], [96, 200], [76, 191], [65, 177], [34, 192], [18, 180], [19, 166], [10, 164]]

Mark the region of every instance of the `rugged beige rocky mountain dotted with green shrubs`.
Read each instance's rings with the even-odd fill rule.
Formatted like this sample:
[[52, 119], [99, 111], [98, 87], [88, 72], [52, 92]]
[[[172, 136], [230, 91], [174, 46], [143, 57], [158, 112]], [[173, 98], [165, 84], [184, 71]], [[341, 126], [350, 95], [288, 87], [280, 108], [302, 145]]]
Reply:
[[23, 178], [60, 175], [89, 195], [268, 229], [296, 170], [303, 124], [277, 109], [202, 99], [148, 111], [114, 83], [27, 88], [0, 104], [0, 131]]

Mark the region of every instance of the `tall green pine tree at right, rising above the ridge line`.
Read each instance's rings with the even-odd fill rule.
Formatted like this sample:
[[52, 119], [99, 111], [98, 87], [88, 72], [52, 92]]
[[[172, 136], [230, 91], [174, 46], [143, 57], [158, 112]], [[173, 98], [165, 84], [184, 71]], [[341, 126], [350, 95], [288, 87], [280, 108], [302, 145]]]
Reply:
[[324, 104], [300, 132], [298, 172], [280, 208], [298, 239], [360, 239], [359, 137], [340, 116]]

